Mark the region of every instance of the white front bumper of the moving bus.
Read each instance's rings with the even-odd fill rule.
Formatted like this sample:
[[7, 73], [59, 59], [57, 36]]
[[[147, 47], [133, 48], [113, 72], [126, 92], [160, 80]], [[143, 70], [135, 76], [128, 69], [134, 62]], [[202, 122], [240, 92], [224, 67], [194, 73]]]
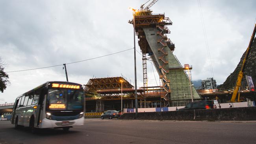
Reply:
[[76, 120], [49, 120], [44, 118], [41, 122], [40, 128], [58, 128], [58, 127], [71, 127], [71, 126], [83, 126], [84, 118], [78, 118]]

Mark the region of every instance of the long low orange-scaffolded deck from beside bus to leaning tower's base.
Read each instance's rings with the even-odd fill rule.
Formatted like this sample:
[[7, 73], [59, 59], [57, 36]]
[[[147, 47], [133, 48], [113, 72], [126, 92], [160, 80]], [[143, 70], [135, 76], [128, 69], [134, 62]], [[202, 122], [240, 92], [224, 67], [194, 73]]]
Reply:
[[[123, 108], [135, 107], [134, 86], [122, 77], [89, 79], [83, 88], [86, 112], [120, 111], [121, 99]], [[180, 101], [184, 103], [184, 100], [165, 100], [165, 96], [163, 87], [141, 87], [137, 89], [138, 108], [171, 107]], [[191, 102], [189, 99], [185, 101]]]

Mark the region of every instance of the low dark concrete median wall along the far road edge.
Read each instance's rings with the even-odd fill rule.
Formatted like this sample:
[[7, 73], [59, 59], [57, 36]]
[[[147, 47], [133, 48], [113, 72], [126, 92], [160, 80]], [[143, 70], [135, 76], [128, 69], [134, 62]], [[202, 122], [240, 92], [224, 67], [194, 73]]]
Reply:
[[125, 113], [119, 120], [256, 120], [256, 107]]

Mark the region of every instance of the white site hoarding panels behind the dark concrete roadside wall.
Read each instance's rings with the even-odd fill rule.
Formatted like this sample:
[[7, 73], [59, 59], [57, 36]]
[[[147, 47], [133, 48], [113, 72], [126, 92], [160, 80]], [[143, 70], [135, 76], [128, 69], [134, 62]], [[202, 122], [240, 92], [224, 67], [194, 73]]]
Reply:
[[[229, 108], [230, 105], [232, 107], [248, 107], [247, 102], [239, 102], [239, 103], [220, 103], [221, 108]], [[219, 104], [215, 104], [217, 106], [217, 109], [219, 109]], [[181, 109], [185, 106], [177, 107], [178, 109]], [[127, 113], [127, 109], [123, 110], [124, 113]], [[176, 107], [168, 107], [168, 111], [176, 111]], [[135, 109], [134, 109], [135, 112]], [[138, 113], [144, 113], [144, 112], [156, 112], [156, 108], [138, 108]]]

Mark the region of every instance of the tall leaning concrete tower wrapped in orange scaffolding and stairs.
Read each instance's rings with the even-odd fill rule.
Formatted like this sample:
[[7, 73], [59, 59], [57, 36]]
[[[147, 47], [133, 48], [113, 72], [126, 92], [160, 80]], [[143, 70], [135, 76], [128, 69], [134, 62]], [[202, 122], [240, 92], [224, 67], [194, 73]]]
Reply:
[[[147, 66], [145, 61], [148, 54], [161, 79], [160, 88], [163, 90], [160, 95], [161, 98], [165, 101], [187, 103], [187, 100], [191, 99], [191, 86], [189, 84], [191, 75], [187, 75], [186, 69], [182, 67], [177, 57], [173, 55], [175, 46], [167, 37], [167, 34], [170, 33], [167, 25], [172, 25], [173, 23], [164, 14], [152, 14], [152, 11], [148, 9], [135, 11], [134, 19], [129, 20], [130, 24], [133, 24], [133, 22], [135, 23], [135, 33], [139, 39], [138, 43], [143, 55], [144, 89], [147, 87]], [[191, 69], [192, 67], [188, 69], [190, 74]], [[145, 97], [146, 95], [144, 94], [143, 96]], [[201, 98], [194, 87], [192, 87], [192, 95], [193, 99]], [[141, 101], [140, 103], [143, 102]], [[169, 102], [168, 105], [170, 105]]]

